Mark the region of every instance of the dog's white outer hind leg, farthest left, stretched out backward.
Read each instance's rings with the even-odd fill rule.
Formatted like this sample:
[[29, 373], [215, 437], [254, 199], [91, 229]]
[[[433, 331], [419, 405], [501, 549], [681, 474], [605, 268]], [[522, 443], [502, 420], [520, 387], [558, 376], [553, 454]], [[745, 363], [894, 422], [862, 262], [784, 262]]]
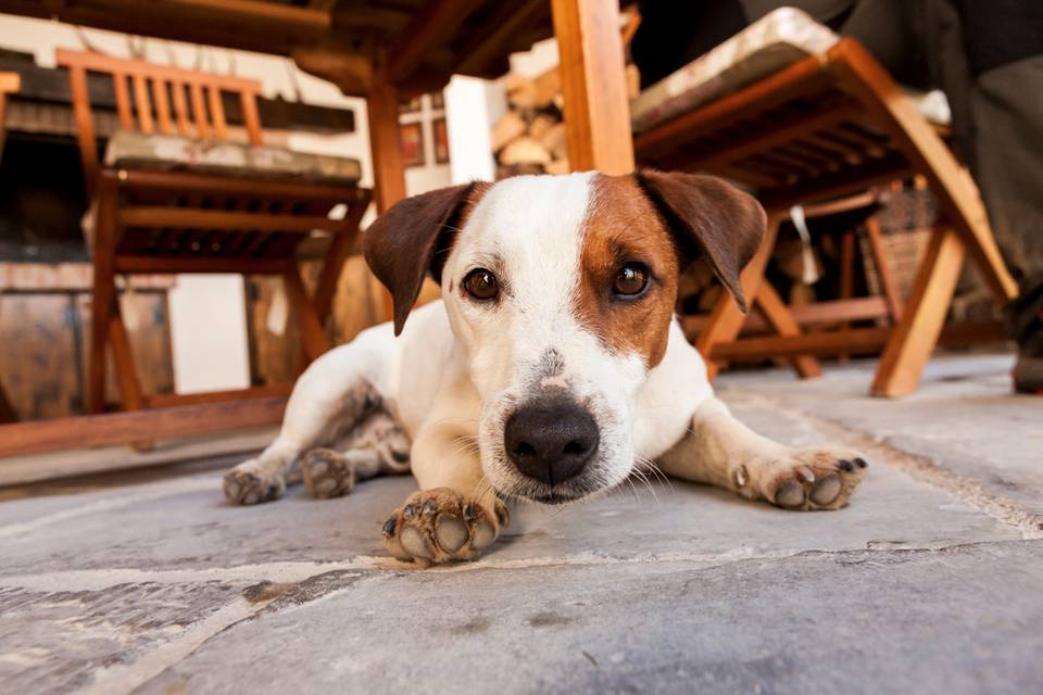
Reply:
[[380, 405], [376, 389], [357, 370], [345, 369], [353, 362], [350, 348], [327, 353], [301, 375], [286, 406], [278, 438], [260, 456], [225, 475], [229, 503], [256, 504], [281, 496], [286, 473], [301, 454], [337, 442]]

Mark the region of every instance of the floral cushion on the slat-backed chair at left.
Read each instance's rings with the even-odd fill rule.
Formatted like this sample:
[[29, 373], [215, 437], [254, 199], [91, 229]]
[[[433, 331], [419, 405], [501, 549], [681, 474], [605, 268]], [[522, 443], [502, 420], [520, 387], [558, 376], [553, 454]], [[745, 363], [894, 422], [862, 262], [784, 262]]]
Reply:
[[118, 130], [109, 140], [105, 164], [226, 176], [292, 176], [338, 184], [356, 184], [362, 176], [359, 161], [349, 157], [133, 130]]

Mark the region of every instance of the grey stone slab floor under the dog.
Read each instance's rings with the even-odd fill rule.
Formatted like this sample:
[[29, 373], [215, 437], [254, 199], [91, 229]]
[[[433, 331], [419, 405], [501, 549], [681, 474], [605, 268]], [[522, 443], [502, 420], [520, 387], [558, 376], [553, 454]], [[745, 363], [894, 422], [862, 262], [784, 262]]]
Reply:
[[[411, 479], [226, 506], [219, 473], [0, 504], [7, 693], [1043, 692], [1043, 399], [1008, 356], [726, 375], [764, 433], [862, 448], [832, 513], [674, 482], [519, 507], [483, 559], [389, 569]], [[0, 462], [2, 466], [2, 462]]]

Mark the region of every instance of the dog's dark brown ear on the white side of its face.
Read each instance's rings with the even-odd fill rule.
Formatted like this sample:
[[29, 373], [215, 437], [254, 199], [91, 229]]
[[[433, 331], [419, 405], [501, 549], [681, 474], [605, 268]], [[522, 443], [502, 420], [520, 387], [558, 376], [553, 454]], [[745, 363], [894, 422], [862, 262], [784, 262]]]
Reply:
[[420, 294], [424, 277], [441, 280], [461, 213], [478, 184], [429, 191], [399, 201], [366, 229], [364, 252], [369, 269], [394, 303], [394, 334]]

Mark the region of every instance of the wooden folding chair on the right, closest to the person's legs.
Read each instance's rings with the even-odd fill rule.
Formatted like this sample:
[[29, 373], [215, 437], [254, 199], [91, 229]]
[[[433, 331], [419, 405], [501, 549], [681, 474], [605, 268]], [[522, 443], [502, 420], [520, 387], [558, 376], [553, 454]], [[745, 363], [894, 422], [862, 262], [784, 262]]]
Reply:
[[[978, 189], [935, 129], [877, 61], [855, 40], [841, 39], [736, 93], [637, 136], [639, 163], [714, 173], [756, 191], [768, 212], [764, 243], [742, 276], [779, 333], [757, 354], [808, 358], [815, 353], [884, 346], [872, 393], [912, 392], [939, 341], [964, 258], [969, 253], [1000, 302], [1017, 293]], [[913, 291], [892, 329], [852, 328], [805, 334], [778, 293], [764, 282], [778, 227], [792, 205], [808, 205], [922, 175], [940, 219]], [[744, 317], [724, 295], [696, 346], [711, 359], [741, 356]], [[810, 367], [809, 367], [810, 368]], [[716, 366], [711, 364], [711, 375]]]

